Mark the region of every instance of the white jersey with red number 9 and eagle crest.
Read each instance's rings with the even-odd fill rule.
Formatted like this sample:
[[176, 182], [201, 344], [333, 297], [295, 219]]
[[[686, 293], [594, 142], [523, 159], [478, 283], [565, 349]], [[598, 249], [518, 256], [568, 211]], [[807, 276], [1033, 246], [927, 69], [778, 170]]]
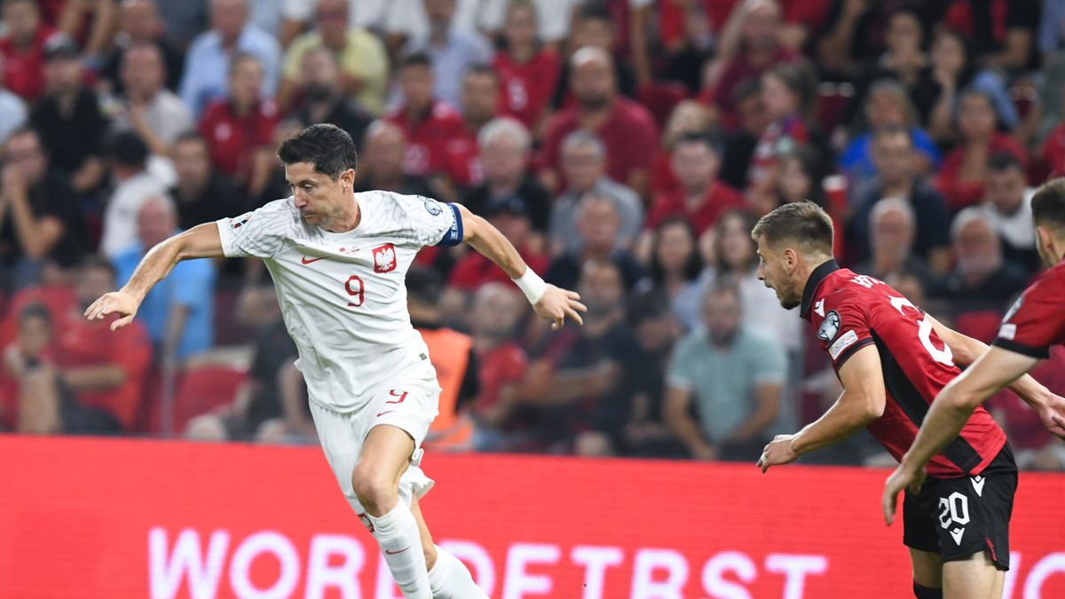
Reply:
[[462, 241], [454, 205], [381, 191], [357, 198], [361, 221], [343, 233], [307, 225], [292, 197], [217, 222], [227, 257], [266, 262], [310, 399], [338, 411], [399, 375], [436, 376], [405, 279], [423, 246]]

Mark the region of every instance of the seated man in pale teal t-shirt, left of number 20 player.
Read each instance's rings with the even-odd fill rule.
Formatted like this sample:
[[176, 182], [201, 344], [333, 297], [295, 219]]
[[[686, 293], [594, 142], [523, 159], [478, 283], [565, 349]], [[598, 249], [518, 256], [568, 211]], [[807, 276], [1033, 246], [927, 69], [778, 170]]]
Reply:
[[751, 459], [780, 410], [784, 353], [744, 326], [742, 312], [736, 288], [710, 288], [702, 304], [705, 328], [689, 333], [670, 360], [666, 419], [697, 459]]

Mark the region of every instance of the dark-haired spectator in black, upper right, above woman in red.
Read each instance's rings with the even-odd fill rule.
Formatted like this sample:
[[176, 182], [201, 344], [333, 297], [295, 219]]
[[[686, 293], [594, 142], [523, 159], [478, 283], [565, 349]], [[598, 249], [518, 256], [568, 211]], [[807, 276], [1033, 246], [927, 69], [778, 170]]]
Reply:
[[951, 29], [939, 29], [932, 43], [932, 64], [921, 72], [914, 91], [914, 102], [921, 113], [924, 128], [938, 144], [957, 139], [955, 116], [963, 91], [983, 90], [992, 99], [999, 120], [1006, 127], [1017, 125], [1019, 117], [1001, 79], [990, 71], [980, 70], [972, 58], [967, 39]]

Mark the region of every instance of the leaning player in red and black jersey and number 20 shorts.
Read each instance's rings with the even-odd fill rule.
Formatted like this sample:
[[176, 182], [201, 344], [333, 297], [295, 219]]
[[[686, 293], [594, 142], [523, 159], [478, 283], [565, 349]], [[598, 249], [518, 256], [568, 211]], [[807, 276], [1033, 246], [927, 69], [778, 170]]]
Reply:
[[[817, 205], [788, 204], [764, 216], [758, 278], [785, 308], [817, 329], [843, 392], [816, 422], [766, 446], [758, 466], [788, 464], [866, 426], [897, 459], [911, 446], [936, 394], [985, 347], [935, 321], [884, 282], [840, 269], [832, 221]], [[1030, 401], [1050, 392], [1029, 376], [1012, 387]], [[980, 408], [931, 460], [933, 483], [905, 500], [903, 544], [914, 595], [1001, 595], [1017, 467], [1005, 434]]]

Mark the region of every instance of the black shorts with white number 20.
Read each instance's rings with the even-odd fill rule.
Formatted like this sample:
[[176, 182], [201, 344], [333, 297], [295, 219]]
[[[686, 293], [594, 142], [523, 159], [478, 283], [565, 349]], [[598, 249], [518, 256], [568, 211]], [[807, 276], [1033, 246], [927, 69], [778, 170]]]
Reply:
[[1017, 490], [1017, 464], [1010, 443], [979, 476], [929, 476], [902, 504], [902, 543], [938, 553], [944, 562], [987, 551], [995, 566], [1010, 569], [1010, 516]]

